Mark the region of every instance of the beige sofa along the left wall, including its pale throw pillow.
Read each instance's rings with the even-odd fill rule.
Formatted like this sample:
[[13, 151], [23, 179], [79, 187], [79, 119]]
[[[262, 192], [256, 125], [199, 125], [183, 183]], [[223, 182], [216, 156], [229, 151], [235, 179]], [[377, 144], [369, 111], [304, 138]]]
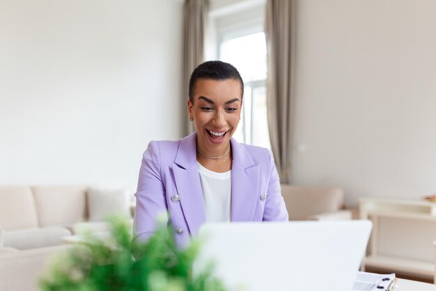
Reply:
[[84, 229], [104, 231], [108, 227], [104, 218], [116, 210], [132, 217], [126, 189], [0, 186], [3, 247], [26, 250], [56, 246], [62, 237]]

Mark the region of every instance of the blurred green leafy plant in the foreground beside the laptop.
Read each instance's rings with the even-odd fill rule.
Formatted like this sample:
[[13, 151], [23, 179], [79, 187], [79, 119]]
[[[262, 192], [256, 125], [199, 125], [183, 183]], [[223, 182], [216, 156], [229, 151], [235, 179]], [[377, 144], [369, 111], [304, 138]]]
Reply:
[[125, 221], [111, 220], [111, 235], [87, 236], [86, 246], [77, 245], [55, 258], [40, 278], [42, 291], [224, 291], [212, 276], [212, 264], [198, 274], [192, 266], [200, 243], [176, 247], [165, 226], [146, 244], [132, 244], [132, 231]]

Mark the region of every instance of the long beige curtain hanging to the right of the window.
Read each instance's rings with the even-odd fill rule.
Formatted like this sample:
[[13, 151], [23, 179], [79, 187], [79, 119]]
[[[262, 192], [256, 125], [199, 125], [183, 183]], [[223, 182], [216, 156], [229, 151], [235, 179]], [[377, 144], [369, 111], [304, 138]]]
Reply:
[[267, 0], [266, 10], [268, 128], [280, 181], [289, 184], [295, 0]]

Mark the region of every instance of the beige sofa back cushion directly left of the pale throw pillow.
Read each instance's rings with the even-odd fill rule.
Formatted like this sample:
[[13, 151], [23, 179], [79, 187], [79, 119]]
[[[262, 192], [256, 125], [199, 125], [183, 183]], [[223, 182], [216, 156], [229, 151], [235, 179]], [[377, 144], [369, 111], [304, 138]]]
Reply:
[[38, 225], [71, 225], [86, 218], [86, 187], [37, 186], [35, 197]]

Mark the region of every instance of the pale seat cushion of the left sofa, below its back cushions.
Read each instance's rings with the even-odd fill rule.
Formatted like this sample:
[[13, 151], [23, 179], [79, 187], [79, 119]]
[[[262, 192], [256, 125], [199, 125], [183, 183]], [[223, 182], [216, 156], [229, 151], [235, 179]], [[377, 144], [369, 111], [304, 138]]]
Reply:
[[36, 227], [23, 230], [9, 230], [4, 234], [4, 246], [26, 250], [43, 248], [62, 243], [61, 238], [71, 235], [65, 227]]

